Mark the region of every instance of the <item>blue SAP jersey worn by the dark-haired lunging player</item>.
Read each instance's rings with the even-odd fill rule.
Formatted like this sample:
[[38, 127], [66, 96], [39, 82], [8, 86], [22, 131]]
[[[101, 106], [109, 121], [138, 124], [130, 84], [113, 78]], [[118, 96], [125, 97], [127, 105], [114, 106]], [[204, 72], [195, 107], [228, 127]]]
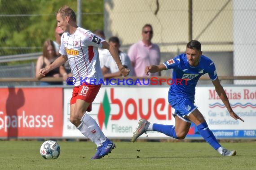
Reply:
[[201, 55], [199, 64], [196, 67], [190, 66], [186, 54], [181, 54], [163, 63], [167, 69], [172, 71], [172, 83], [169, 89], [170, 98], [189, 98], [194, 102], [195, 86], [205, 73], [208, 73], [212, 80], [217, 78], [216, 68], [211, 59]]

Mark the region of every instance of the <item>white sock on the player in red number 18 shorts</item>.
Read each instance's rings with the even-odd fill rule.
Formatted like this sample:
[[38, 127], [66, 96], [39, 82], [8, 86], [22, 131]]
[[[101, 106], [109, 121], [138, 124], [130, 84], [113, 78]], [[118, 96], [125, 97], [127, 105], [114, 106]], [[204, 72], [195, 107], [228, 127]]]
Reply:
[[83, 122], [88, 127], [90, 132], [93, 133], [101, 142], [106, 141], [106, 136], [104, 135], [96, 121], [90, 115], [85, 113], [81, 119], [81, 122]]

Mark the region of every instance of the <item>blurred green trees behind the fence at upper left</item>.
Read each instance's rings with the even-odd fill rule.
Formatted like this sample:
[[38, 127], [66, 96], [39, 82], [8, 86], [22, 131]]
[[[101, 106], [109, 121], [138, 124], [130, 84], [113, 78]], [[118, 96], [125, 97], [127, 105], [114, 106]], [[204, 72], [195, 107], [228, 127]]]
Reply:
[[[75, 0], [0, 0], [0, 56], [41, 52], [44, 40], [54, 38], [56, 12]], [[103, 0], [82, 0], [81, 26], [103, 29]]]

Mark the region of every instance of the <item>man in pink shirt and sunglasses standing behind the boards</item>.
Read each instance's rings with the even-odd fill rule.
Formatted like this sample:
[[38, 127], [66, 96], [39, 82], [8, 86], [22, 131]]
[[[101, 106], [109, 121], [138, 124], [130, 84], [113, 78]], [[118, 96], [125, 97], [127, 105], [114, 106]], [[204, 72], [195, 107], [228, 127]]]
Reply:
[[[146, 66], [160, 63], [159, 46], [151, 42], [152, 26], [150, 24], [143, 26], [141, 34], [142, 40], [133, 44], [128, 51], [135, 76], [146, 76], [144, 73]], [[150, 73], [149, 76], [160, 76], [160, 72]]]

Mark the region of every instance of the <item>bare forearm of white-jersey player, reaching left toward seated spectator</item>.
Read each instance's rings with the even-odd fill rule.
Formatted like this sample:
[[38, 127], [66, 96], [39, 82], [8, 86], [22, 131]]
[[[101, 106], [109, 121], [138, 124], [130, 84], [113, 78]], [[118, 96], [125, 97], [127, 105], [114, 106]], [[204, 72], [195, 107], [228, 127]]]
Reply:
[[67, 60], [67, 56], [61, 55], [57, 59], [55, 59], [52, 64], [50, 64], [49, 66], [46, 66], [45, 68], [40, 69], [39, 74], [41, 78], [43, 78], [49, 71], [53, 70], [54, 68], [57, 68], [63, 65], [66, 62], [66, 60]]

